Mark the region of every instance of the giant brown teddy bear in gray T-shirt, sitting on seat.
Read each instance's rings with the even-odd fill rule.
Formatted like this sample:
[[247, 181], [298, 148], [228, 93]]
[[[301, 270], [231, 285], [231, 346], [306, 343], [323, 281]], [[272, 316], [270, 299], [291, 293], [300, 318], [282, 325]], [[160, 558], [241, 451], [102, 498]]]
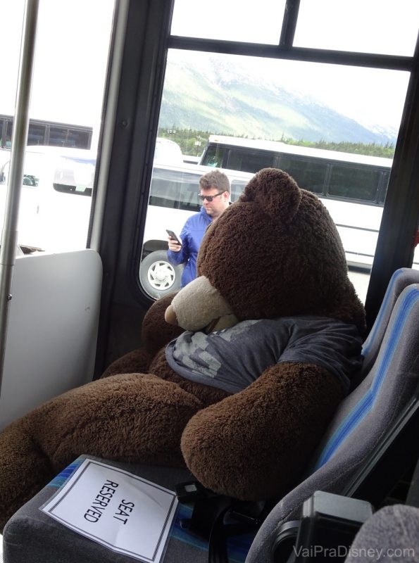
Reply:
[[151, 306], [142, 348], [1, 432], [1, 527], [82, 453], [186, 464], [249, 500], [297, 481], [365, 329], [330, 215], [285, 172], [261, 170], [208, 228], [198, 273]]

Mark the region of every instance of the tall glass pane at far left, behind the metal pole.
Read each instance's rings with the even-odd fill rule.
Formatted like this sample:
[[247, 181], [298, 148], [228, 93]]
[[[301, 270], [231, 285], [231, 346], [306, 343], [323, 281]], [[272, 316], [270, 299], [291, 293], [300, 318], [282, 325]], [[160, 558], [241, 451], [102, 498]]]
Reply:
[[[99, 139], [115, 0], [103, 0], [100, 11], [93, 0], [39, 4], [18, 244], [61, 253], [81, 250], [88, 243], [97, 147], [93, 146], [93, 153], [86, 147], [92, 144], [93, 128]], [[8, 49], [8, 69], [18, 70], [20, 49], [14, 38], [21, 35], [22, 21], [14, 9], [12, 12], [14, 27], [8, 37], [13, 37], [15, 48]], [[92, 42], [73, 40], [90, 37], [92, 23], [97, 24]], [[11, 73], [6, 75], [8, 85], [13, 85]], [[10, 90], [2, 91], [5, 99]], [[7, 128], [13, 125], [11, 107], [8, 103], [0, 107], [3, 137], [5, 124]], [[68, 151], [85, 151], [87, 162], [60, 160], [68, 158]], [[0, 151], [0, 166], [6, 162], [6, 154], [9, 160], [10, 151]], [[81, 153], [78, 156], [83, 160]], [[32, 177], [39, 178], [36, 186]], [[0, 212], [4, 194], [6, 189], [1, 186]], [[3, 216], [1, 213], [0, 227]]]

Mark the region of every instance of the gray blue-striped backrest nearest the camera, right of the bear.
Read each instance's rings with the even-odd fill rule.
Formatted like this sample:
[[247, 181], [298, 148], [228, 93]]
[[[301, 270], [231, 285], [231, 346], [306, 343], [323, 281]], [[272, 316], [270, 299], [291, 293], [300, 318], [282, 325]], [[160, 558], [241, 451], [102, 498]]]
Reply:
[[[411, 284], [396, 298], [370, 371], [337, 408], [305, 479], [268, 514], [246, 563], [273, 562], [278, 531], [299, 519], [303, 502], [315, 491], [345, 495], [351, 489], [377, 444], [393, 429], [409, 401], [415, 400], [418, 376], [419, 284]], [[408, 449], [404, 448], [406, 455]], [[406, 470], [406, 460], [396, 462]]]

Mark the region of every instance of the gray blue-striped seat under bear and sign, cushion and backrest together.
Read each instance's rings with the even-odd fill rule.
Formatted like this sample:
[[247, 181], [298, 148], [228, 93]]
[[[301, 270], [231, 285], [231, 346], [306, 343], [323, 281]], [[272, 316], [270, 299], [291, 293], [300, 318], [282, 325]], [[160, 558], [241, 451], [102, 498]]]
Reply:
[[[323, 441], [313, 455], [304, 480], [268, 514], [251, 543], [249, 553], [246, 555], [250, 542], [246, 548], [242, 543], [237, 548], [234, 560], [272, 563], [277, 530], [287, 521], [299, 518], [304, 500], [315, 491], [338, 494], [345, 491], [373, 452], [379, 438], [389, 430], [413, 396], [418, 373], [419, 284], [411, 284], [396, 299], [373, 367], [338, 407]], [[108, 460], [101, 461], [116, 464]], [[118, 464], [118, 467], [170, 488], [191, 477], [185, 470], [164, 467], [135, 464]], [[98, 560], [104, 563], [130, 561], [130, 558], [125, 557], [115, 559], [115, 553], [65, 529], [39, 510], [51, 498], [57, 486], [59, 483], [50, 483], [8, 521], [4, 528], [4, 562], [35, 563], [41, 559], [52, 562], [56, 561], [58, 554], [62, 563], [73, 563], [77, 559], [85, 563]], [[181, 560], [185, 563], [204, 563], [208, 561], [208, 552], [204, 544], [196, 543], [190, 537], [188, 539], [187, 531], [177, 527], [175, 535], [170, 538], [164, 563]]]

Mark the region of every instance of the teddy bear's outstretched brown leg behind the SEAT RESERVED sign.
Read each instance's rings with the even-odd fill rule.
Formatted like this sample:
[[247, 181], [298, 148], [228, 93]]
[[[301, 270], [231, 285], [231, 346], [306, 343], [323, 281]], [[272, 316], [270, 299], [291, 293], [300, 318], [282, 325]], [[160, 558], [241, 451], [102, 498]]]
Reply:
[[81, 454], [184, 465], [180, 436], [201, 406], [177, 384], [140, 374], [49, 400], [0, 434], [0, 526]]

